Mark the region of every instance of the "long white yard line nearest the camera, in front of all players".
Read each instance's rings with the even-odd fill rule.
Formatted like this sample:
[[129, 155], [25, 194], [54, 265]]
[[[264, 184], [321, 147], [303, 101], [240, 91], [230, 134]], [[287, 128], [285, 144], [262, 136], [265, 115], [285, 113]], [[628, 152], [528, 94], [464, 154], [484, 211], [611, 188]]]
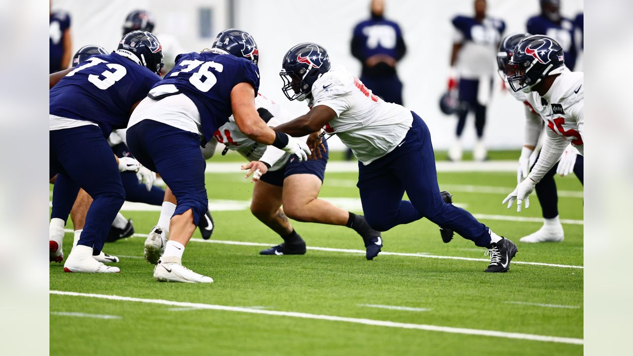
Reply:
[[230, 307], [228, 305], [175, 302], [172, 300], [134, 298], [134, 297], [129, 297], [129, 296], [102, 295], [102, 294], [91, 294], [91, 293], [76, 293], [72, 291], [49, 291], [49, 293], [53, 295], [82, 296], [85, 298], [118, 300], [122, 302], [151, 303], [151, 304], [171, 305], [174, 307], [189, 307], [189, 308], [200, 308], [200, 309], [210, 309], [210, 310], [224, 310], [228, 312], [241, 312], [241, 313], [250, 313], [250, 314], [278, 315], [278, 316], [285, 316], [285, 317], [296, 317], [296, 318], [301, 318], [301, 319], [351, 322], [354, 324], [364, 324], [364, 325], [384, 326], [384, 327], [398, 327], [401, 329], [438, 331], [441, 333], [494, 336], [498, 338], [510, 338], [510, 339], [519, 339], [519, 340], [532, 340], [532, 341], [553, 342], [553, 343], [567, 343], [567, 344], [573, 344], [573, 345], [584, 345], [584, 340], [582, 339], [563, 338], [559, 336], [546, 336], [546, 335], [523, 334], [523, 333], [506, 333], [504, 331], [468, 329], [466, 327], [449, 327], [449, 326], [437, 326], [437, 325], [428, 325], [428, 324], [410, 324], [406, 322], [360, 319], [360, 318], [353, 318], [353, 317], [338, 317], [335, 315], [308, 314], [308, 313], [299, 313], [299, 312], [282, 312], [279, 310], [261, 310], [261, 309], [251, 309], [251, 308], [241, 308], [241, 307]]

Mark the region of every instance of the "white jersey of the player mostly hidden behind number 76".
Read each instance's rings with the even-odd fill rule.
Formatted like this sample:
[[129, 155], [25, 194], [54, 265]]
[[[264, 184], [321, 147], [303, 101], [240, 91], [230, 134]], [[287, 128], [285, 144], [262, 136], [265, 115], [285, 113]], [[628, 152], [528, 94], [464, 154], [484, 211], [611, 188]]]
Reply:
[[[284, 124], [293, 118], [281, 105], [261, 94], [258, 94], [255, 98], [255, 107], [258, 109], [265, 108], [272, 113], [273, 118], [268, 121], [268, 126], [270, 127]], [[288, 158], [291, 156], [291, 154], [285, 153], [281, 149], [275, 148], [272, 145], [266, 146], [265, 144], [257, 143], [256, 141], [249, 139], [248, 136], [242, 134], [239, 130], [237, 124], [235, 124], [235, 119], [232, 116], [229, 118], [229, 122], [222, 125], [220, 129], [215, 131], [213, 137], [215, 140], [211, 140], [210, 143], [207, 143], [207, 146], [216, 144], [216, 141], [218, 143], [222, 143], [227, 148], [237, 151], [249, 161], [262, 161], [268, 163], [270, 165], [268, 171], [270, 172], [284, 167]]]

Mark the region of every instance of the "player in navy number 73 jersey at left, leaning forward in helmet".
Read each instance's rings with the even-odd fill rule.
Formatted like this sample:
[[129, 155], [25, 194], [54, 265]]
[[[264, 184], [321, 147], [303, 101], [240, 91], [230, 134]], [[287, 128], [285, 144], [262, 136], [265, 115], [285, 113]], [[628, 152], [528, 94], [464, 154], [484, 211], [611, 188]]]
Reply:
[[[83, 188], [93, 201], [64, 270], [119, 272], [92, 257], [101, 253], [125, 200], [117, 169], [122, 160], [113, 155], [106, 137], [113, 129], [127, 126], [134, 106], [160, 80], [163, 54], [153, 34], [135, 31], [123, 36], [113, 53], [92, 56], [80, 64], [49, 79], [53, 86], [49, 94], [51, 175], [58, 174], [51, 219], [65, 223]], [[51, 253], [53, 247], [51, 243]]]

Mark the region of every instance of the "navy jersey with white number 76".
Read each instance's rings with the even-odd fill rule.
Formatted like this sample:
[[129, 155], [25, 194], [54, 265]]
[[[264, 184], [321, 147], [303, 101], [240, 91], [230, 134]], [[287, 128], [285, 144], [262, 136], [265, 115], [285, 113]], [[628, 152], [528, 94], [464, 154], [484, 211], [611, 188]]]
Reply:
[[200, 113], [202, 144], [233, 115], [231, 91], [246, 82], [260, 88], [260, 72], [253, 62], [231, 54], [204, 51], [176, 56], [176, 65], [160, 84], [173, 84], [196, 105]]

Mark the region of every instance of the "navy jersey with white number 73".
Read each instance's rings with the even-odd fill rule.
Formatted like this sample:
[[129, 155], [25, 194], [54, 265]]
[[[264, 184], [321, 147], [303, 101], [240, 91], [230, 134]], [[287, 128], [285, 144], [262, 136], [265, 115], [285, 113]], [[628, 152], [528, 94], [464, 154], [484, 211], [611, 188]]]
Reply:
[[79, 63], [49, 92], [53, 115], [96, 123], [105, 137], [125, 129], [132, 106], [160, 81], [156, 73], [117, 53]]

